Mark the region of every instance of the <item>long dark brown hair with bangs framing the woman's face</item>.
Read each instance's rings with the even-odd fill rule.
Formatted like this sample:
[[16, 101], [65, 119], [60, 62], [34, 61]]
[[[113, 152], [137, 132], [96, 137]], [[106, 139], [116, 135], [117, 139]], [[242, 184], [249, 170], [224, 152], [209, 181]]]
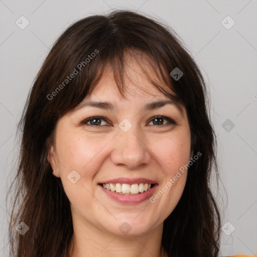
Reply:
[[[195, 61], [167, 25], [130, 11], [114, 11], [81, 19], [58, 38], [39, 70], [18, 129], [21, 134], [15, 197], [9, 226], [10, 255], [64, 257], [73, 242], [70, 202], [60, 178], [52, 175], [47, 155], [54, 144], [58, 119], [73, 110], [94, 89], [107, 65], [124, 94], [124, 58], [129, 51], [147, 57], [153, 72], [176, 96], [162, 88], [151, 72], [151, 84], [186, 108], [193, 155], [184, 192], [164, 221], [162, 245], [172, 257], [217, 257], [220, 214], [210, 189], [218, 176], [216, 137], [208, 111], [208, 91]], [[139, 63], [140, 64], [140, 63]], [[183, 76], [170, 75], [179, 68]], [[70, 74], [76, 75], [67, 79]], [[24, 222], [29, 230], [15, 229]]]

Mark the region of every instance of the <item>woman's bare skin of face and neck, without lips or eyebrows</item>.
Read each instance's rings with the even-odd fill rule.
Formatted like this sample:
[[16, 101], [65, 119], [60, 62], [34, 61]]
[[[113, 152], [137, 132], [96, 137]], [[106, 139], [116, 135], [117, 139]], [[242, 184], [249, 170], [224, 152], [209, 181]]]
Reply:
[[[66, 113], [57, 122], [48, 160], [71, 203], [75, 237], [72, 256], [167, 256], [161, 247], [163, 222], [181, 198], [187, 170], [154, 203], [147, 199], [139, 204], [121, 204], [98, 185], [118, 177], [143, 177], [158, 182], [157, 193], [190, 160], [185, 108], [182, 106], [183, 114], [174, 104], [143, 110], [149, 102], [170, 98], [153, 87], [137, 65], [138, 61], [130, 60], [125, 66], [130, 78], [125, 80], [127, 99], [121, 97], [111, 70], [106, 69], [92, 94], [83, 100], [108, 101], [115, 110], [86, 106]], [[98, 126], [81, 124], [96, 115], [107, 120], [101, 120]], [[170, 117], [177, 124], [169, 124], [165, 118], [163, 125], [154, 124], [156, 115]], [[126, 133], [118, 126], [124, 118], [132, 124]], [[80, 175], [75, 184], [67, 178], [72, 170]], [[131, 227], [126, 235], [119, 230], [123, 222]]]

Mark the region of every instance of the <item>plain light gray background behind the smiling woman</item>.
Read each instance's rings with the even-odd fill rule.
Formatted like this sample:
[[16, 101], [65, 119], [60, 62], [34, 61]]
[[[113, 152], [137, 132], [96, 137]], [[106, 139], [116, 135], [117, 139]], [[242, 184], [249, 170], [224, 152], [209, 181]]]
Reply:
[[[218, 135], [223, 186], [220, 196], [214, 183], [213, 190], [224, 225], [221, 255], [257, 253], [256, 1], [0, 0], [0, 256], [8, 256], [10, 210], [5, 197], [19, 152], [17, 122], [37, 71], [54, 41], [73, 21], [119, 8], [138, 10], [166, 22], [200, 66], [209, 86], [211, 116]], [[21, 16], [30, 22], [24, 30], [16, 25]], [[235, 21], [230, 29], [221, 23], [227, 16]], [[232, 24], [227, 19], [224, 22]], [[226, 119], [228, 123], [224, 123]]]

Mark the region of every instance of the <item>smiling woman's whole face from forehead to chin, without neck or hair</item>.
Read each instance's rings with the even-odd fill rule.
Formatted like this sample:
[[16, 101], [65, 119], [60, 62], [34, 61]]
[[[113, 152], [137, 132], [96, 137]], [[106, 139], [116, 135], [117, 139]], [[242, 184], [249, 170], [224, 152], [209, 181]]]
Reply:
[[190, 160], [185, 108], [154, 104], [170, 98], [131, 64], [127, 99], [106, 70], [84, 105], [58, 120], [48, 157], [70, 200], [73, 222], [118, 235], [162, 226], [181, 198], [187, 170], [180, 168]]

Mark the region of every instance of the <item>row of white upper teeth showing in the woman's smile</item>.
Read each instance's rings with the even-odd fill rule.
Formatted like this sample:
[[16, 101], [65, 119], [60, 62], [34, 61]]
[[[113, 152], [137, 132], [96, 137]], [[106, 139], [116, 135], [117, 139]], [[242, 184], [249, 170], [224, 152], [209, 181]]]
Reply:
[[151, 184], [148, 183], [140, 183], [140, 184], [120, 184], [120, 183], [109, 183], [109, 184], [102, 184], [103, 188], [106, 188], [107, 190], [110, 190], [112, 192], [116, 191], [117, 193], [122, 194], [138, 194], [143, 193], [144, 191], [151, 189]]

